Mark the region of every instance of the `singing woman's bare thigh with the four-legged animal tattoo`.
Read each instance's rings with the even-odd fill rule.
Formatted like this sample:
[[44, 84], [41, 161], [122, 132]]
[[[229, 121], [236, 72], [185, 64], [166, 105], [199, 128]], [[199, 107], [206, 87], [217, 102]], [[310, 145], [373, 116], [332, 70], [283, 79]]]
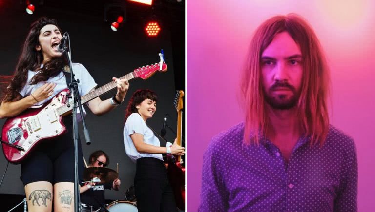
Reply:
[[52, 184], [38, 181], [25, 185], [26, 200], [29, 212], [52, 211]]

